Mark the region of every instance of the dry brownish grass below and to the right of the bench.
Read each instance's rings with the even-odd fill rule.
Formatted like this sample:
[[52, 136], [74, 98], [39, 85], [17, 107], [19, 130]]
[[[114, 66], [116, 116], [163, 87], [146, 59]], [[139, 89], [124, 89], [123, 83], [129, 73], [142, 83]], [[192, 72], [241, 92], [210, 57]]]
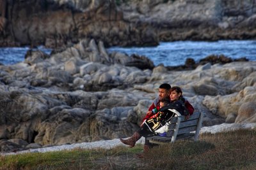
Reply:
[[[180, 141], [154, 148], [147, 161], [152, 162], [152, 169], [255, 169], [255, 146], [255, 130], [202, 134], [197, 142]], [[157, 164], [159, 161], [161, 164]]]

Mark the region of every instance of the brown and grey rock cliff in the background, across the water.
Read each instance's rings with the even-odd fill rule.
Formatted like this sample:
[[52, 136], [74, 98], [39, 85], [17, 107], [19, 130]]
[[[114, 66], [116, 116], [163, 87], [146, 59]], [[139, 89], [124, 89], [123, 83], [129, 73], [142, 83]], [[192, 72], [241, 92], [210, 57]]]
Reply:
[[[256, 37], [255, 13], [255, 1], [250, 0], [2, 0], [0, 46], [67, 47], [83, 38], [108, 46], [157, 45], [159, 41], [185, 39], [252, 39]], [[97, 53], [90, 57], [100, 59]]]

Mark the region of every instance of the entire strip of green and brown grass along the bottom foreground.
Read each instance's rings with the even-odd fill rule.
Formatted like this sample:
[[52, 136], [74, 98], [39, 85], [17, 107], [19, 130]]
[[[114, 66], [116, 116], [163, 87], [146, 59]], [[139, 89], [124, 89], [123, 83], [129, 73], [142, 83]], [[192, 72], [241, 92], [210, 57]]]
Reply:
[[134, 148], [75, 149], [0, 157], [0, 169], [255, 169], [256, 129], [202, 134], [199, 141]]

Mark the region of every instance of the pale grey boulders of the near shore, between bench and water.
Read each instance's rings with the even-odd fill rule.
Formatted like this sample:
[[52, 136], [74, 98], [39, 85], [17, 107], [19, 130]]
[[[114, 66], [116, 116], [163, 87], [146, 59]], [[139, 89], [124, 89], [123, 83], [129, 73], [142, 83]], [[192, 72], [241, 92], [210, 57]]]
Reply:
[[131, 136], [164, 82], [205, 112], [204, 126], [256, 122], [255, 70], [256, 62], [209, 60], [173, 71], [107, 53], [94, 39], [52, 55], [29, 51], [24, 62], [0, 66], [1, 152]]

